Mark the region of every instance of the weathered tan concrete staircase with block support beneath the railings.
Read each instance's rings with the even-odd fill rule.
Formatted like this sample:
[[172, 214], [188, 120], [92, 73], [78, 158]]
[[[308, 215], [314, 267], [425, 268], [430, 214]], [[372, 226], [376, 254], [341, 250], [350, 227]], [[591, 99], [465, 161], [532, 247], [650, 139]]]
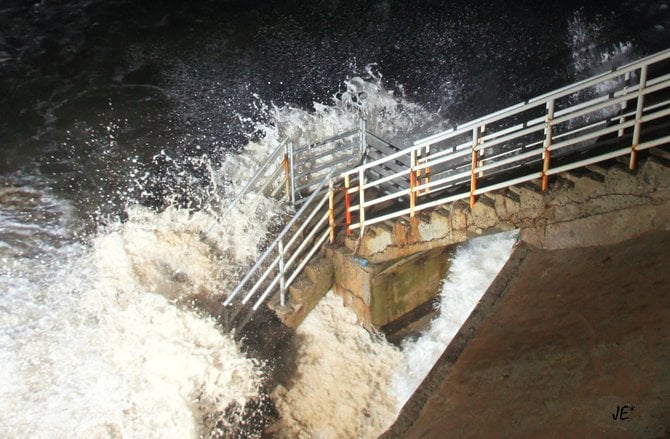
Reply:
[[[445, 252], [471, 237], [522, 229], [542, 245], [554, 226], [574, 222], [575, 230], [581, 224], [588, 233], [559, 239], [590, 245], [595, 242], [589, 239], [629, 233], [630, 227], [668, 228], [670, 147], [652, 151], [634, 171], [625, 160], [613, 159], [553, 176], [546, 192], [539, 182], [525, 182], [486, 193], [472, 208], [460, 200], [411, 219], [374, 224], [362, 237], [341, 233], [291, 287], [289, 306], [275, 310], [285, 324], [297, 327], [332, 286], [362, 323], [381, 328], [437, 295], [448, 269]], [[599, 221], [613, 214], [618, 222]], [[411, 295], [399, 294], [403, 289]]]

